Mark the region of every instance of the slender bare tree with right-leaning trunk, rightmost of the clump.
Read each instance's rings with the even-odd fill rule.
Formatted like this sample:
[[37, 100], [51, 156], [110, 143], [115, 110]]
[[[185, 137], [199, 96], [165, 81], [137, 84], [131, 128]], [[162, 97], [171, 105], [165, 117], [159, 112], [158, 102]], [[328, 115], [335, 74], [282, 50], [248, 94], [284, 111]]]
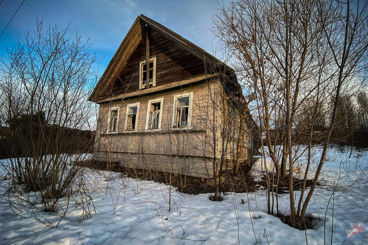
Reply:
[[[330, 14], [331, 9], [335, 12]], [[333, 55], [335, 63], [333, 64], [333, 84], [335, 85], [335, 102], [332, 110], [328, 131], [326, 132], [325, 143], [323, 145], [322, 156], [314, 176], [313, 184], [304, 200], [300, 213], [300, 223], [304, 223], [304, 216], [308, 203], [313, 195], [319, 174], [325, 161], [329, 138], [336, 120], [337, 108], [339, 107], [340, 91], [347, 86], [349, 79], [363, 81], [362, 76], [366, 75], [368, 66], [368, 26], [367, 26], [367, 3], [351, 8], [350, 1], [341, 3], [338, 1], [332, 3], [323, 3], [319, 1], [320, 19], [323, 24], [323, 33], [325, 34], [330, 52]]]

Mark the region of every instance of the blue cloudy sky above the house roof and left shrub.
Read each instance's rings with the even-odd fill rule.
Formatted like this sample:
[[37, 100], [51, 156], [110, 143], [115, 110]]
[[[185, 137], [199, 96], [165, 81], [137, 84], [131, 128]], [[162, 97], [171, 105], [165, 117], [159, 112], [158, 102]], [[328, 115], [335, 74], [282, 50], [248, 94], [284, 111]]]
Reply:
[[[0, 5], [0, 33], [22, 1], [3, 0]], [[102, 74], [139, 14], [212, 53], [213, 49], [220, 47], [210, 31], [211, 17], [218, 7], [216, 0], [25, 0], [0, 37], [0, 54], [7, 57], [7, 48], [15, 46], [18, 34], [24, 37], [24, 33], [33, 32], [37, 18], [43, 18], [44, 25], [56, 25], [59, 30], [72, 21], [71, 28], [78, 28], [82, 38], [90, 38], [91, 51], [95, 51], [99, 59], [103, 58], [99, 68]]]

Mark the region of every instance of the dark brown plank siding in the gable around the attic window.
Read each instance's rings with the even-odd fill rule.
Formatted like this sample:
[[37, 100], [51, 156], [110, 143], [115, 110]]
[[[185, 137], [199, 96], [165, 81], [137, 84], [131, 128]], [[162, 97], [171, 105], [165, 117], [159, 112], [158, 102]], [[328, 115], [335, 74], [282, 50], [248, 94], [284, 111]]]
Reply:
[[[156, 57], [156, 86], [205, 73], [204, 61], [153, 30], [149, 50], [149, 56]], [[114, 80], [111, 94], [139, 90], [139, 63], [144, 60], [146, 60], [146, 39], [139, 42], [118, 78]]]

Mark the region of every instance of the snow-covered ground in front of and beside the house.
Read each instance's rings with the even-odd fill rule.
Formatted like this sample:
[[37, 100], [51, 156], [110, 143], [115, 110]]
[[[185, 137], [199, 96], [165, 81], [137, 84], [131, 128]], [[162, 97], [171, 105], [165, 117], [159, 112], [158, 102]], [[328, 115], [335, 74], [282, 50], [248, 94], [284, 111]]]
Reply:
[[[316, 147], [314, 158], [318, 158], [320, 152], [321, 147]], [[365, 171], [368, 152], [354, 150], [350, 158], [349, 155], [350, 149], [343, 153], [339, 148], [329, 149], [321, 174], [325, 184], [316, 188], [307, 209], [320, 221], [306, 232], [268, 215], [266, 195], [262, 190], [248, 194], [224, 193], [222, 202], [212, 202], [209, 200], [211, 194], [188, 195], [173, 188], [169, 212], [167, 185], [98, 170], [89, 170], [85, 175], [95, 207], [91, 206], [92, 216], [83, 218], [83, 209], [72, 201], [67, 216], [55, 228], [60, 217], [43, 212], [40, 205], [20, 207], [7, 203], [8, 199], [15, 199], [14, 194], [5, 193], [9, 180], [0, 167], [0, 244], [287, 245], [306, 244], [308, 240], [310, 245], [324, 244], [325, 241], [331, 244], [331, 237], [332, 244], [368, 244], [368, 221], [364, 223], [368, 220], [368, 176]], [[300, 159], [301, 168], [303, 159]], [[7, 160], [2, 162], [7, 164]], [[259, 167], [261, 161], [256, 164]], [[257, 171], [255, 167], [255, 177]], [[331, 198], [334, 183], [338, 187]], [[281, 195], [280, 209], [288, 210], [288, 201], [288, 194]], [[64, 200], [60, 200], [60, 205], [66, 208]], [[346, 230], [353, 230], [354, 224], [357, 228], [362, 227], [353, 236], [357, 240], [344, 241]]]

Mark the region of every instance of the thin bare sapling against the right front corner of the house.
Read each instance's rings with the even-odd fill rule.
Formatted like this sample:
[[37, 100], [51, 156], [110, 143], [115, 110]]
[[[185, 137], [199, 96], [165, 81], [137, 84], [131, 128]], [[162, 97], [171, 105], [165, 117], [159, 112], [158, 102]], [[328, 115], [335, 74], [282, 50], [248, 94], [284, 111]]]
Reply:
[[[252, 126], [249, 111], [235, 74], [229, 67], [209, 68], [217, 74], [203, 85], [195, 117], [201, 122], [196, 130], [198, 140], [189, 143], [201, 152], [208, 179], [213, 185], [212, 201], [222, 200], [223, 171], [239, 172], [240, 163], [250, 154]], [[209, 71], [209, 69], [211, 69]], [[200, 129], [200, 130], [199, 130]]]

